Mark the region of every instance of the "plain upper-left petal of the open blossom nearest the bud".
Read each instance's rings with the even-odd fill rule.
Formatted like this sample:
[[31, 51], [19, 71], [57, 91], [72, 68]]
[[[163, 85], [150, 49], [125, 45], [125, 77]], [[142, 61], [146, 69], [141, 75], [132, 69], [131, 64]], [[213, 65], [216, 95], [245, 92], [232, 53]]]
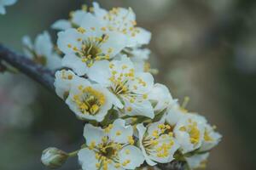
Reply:
[[87, 145], [90, 145], [92, 142], [96, 145], [101, 144], [104, 136], [105, 133], [101, 127], [94, 127], [91, 124], [84, 126], [84, 139], [86, 139]]

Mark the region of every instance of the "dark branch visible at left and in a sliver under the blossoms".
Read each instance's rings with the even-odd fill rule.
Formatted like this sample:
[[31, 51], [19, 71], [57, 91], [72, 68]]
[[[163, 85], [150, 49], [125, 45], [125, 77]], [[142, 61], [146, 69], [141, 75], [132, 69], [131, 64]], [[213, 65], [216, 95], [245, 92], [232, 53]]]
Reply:
[[[3, 65], [3, 63], [1, 64], [1, 61], [5, 61], [7, 64], [15, 67], [15, 69], [18, 69], [26, 76], [42, 84], [45, 88], [55, 92], [54, 72], [49, 71], [49, 69], [42, 65], [34, 63], [25, 55], [16, 54], [14, 51], [4, 47], [0, 43], [0, 65]], [[4, 67], [6, 66], [4, 65]], [[183, 170], [184, 164], [183, 162], [172, 161], [168, 164], [159, 164], [159, 167], [162, 170]]]

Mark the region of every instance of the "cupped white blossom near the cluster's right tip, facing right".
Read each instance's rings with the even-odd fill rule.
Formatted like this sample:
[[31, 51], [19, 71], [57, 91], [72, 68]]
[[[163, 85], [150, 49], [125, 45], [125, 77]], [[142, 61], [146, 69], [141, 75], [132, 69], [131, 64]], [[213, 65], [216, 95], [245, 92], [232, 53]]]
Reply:
[[181, 145], [183, 154], [201, 147], [205, 133], [204, 117], [187, 113], [174, 127], [173, 133], [177, 142]]

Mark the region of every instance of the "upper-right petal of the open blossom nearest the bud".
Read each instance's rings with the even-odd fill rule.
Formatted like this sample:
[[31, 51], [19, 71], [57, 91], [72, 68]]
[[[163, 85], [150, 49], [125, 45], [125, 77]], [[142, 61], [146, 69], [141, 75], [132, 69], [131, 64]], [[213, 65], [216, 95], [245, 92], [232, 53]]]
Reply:
[[128, 143], [128, 137], [133, 134], [133, 128], [131, 126], [125, 126], [125, 120], [117, 119], [113, 122], [113, 128], [109, 132], [109, 137], [114, 142], [119, 144]]

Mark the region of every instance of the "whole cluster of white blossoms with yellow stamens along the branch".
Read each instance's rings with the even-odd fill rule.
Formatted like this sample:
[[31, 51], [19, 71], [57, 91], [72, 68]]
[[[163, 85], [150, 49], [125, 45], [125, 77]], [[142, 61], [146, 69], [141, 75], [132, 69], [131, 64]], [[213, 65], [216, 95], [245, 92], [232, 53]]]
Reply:
[[25, 37], [26, 52], [62, 68], [55, 72], [55, 92], [86, 122], [85, 143], [76, 152], [83, 170], [148, 169], [174, 160], [186, 161], [190, 169], [205, 164], [221, 135], [154, 82], [150, 51], [143, 48], [151, 34], [137, 26], [131, 8], [108, 11], [93, 3], [52, 27], [59, 30], [61, 65], [45, 61], [55, 57], [46, 32], [34, 46]]

